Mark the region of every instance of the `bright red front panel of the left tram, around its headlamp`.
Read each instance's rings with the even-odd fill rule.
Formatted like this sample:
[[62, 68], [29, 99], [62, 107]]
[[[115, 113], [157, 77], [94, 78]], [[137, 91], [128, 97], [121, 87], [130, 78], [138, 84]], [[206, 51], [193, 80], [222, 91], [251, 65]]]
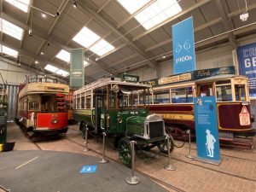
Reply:
[[[52, 123], [53, 119], [58, 119], [56, 124]], [[49, 128], [50, 130], [67, 128], [67, 113], [38, 113], [37, 129]]]

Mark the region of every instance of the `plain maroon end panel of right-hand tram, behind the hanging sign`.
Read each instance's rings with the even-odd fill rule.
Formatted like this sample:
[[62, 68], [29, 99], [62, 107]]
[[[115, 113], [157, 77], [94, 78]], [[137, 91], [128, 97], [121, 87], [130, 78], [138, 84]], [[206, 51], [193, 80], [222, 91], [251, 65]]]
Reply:
[[[239, 122], [239, 113], [241, 113], [241, 108], [243, 105], [241, 103], [227, 103], [218, 105], [218, 118], [219, 118], [219, 126], [223, 129], [233, 129], [241, 130], [241, 129], [250, 129], [251, 125], [240, 125]], [[246, 106], [248, 113], [251, 113], [250, 106]]]

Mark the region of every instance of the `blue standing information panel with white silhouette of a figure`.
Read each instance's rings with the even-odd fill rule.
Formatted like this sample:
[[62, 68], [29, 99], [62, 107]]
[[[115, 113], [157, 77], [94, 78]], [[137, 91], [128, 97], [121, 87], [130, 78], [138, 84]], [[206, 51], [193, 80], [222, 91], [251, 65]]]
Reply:
[[215, 96], [194, 98], [197, 159], [220, 163]]

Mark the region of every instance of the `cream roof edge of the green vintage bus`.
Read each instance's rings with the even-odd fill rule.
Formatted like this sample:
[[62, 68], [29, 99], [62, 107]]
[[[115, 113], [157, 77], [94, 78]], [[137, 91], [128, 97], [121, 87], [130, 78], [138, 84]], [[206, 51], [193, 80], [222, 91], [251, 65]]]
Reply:
[[127, 85], [127, 86], [134, 86], [139, 88], [150, 88], [152, 87], [150, 84], [141, 84], [141, 83], [131, 83], [131, 82], [125, 82], [121, 81], [119, 78], [111, 79], [111, 78], [104, 78], [104, 79], [98, 79], [93, 83], [86, 84], [79, 90], [75, 90], [74, 93], [83, 92], [84, 90], [90, 90], [90, 89], [96, 89], [108, 84], [119, 84], [119, 85]]

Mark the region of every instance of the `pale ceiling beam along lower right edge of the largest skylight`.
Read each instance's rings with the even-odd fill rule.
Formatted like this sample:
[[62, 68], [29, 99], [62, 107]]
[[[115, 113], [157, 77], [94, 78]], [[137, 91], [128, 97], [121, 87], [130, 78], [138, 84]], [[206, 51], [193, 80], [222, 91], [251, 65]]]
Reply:
[[171, 17], [171, 18], [169, 18], [169, 19], [167, 19], [167, 20], [161, 22], [159, 25], [152, 27], [152, 28], [149, 29], [148, 31], [143, 32], [143, 33], [137, 35], [135, 38], [132, 39], [132, 41], [136, 41], [136, 40], [138, 40], [139, 38], [143, 38], [143, 37], [144, 37], [145, 35], [147, 35], [149, 32], [153, 32], [154, 30], [156, 30], [156, 29], [159, 28], [160, 26], [164, 26], [164, 25], [166, 25], [167, 23], [169, 23], [169, 22], [171, 22], [171, 21], [173, 21], [173, 20], [176, 20], [178, 17], [183, 16], [183, 15], [186, 15], [186, 14], [188, 14], [189, 12], [191, 12], [192, 10], [201, 7], [202, 5], [204, 5], [204, 4], [206, 4], [206, 3], [209, 3], [210, 1], [211, 1], [211, 0], [201, 0], [201, 1], [198, 2], [198, 3], [195, 3], [195, 5], [189, 7], [189, 9], [183, 10], [180, 14], [174, 15], [173, 17]]

